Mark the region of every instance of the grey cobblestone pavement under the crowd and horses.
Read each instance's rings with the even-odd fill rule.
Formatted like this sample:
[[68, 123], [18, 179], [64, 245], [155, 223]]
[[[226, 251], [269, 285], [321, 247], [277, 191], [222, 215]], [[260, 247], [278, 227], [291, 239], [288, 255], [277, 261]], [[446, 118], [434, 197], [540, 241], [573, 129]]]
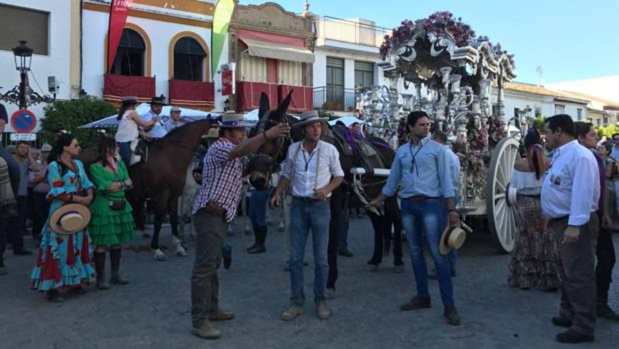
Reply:
[[[506, 285], [509, 256], [496, 253], [490, 236], [469, 237], [461, 250], [454, 279], [462, 325], [444, 323], [438, 285], [430, 283], [433, 307], [402, 312], [399, 304], [413, 295], [410, 259], [405, 250], [405, 272], [394, 274], [391, 257], [378, 272], [366, 271], [373, 241], [368, 218], [352, 218], [352, 258], [339, 258], [337, 297], [329, 301], [332, 317], [316, 318], [308, 302], [305, 315], [292, 322], [280, 320], [288, 304], [289, 279], [284, 272], [284, 239], [275, 226], [269, 229], [267, 253], [249, 255], [241, 220], [235, 225], [233, 263], [220, 270], [220, 298], [225, 309], [236, 312], [233, 321], [217, 323], [223, 338], [193, 337], [191, 331], [190, 257], [168, 253], [167, 262], [154, 262], [150, 252], [126, 249], [124, 275], [128, 286], [108, 291], [90, 287], [87, 295], [71, 296], [51, 304], [28, 289], [35, 257], [7, 253], [9, 275], [0, 277], [0, 348], [558, 348], [561, 330], [550, 317], [558, 294], [522, 291]], [[137, 239], [136, 246], [146, 246]], [[170, 233], [162, 235], [170, 246]], [[619, 246], [619, 235], [615, 235]], [[306, 294], [312, 298], [311, 244], [305, 267]], [[193, 247], [193, 243], [189, 243]], [[389, 261], [389, 262], [387, 262]], [[615, 280], [619, 280], [615, 268]], [[109, 270], [109, 267], [108, 267]], [[619, 309], [619, 284], [611, 290]], [[619, 323], [599, 321], [593, 348], [617, 348]], [[613, 344], [615, 343], [615, 344]]]

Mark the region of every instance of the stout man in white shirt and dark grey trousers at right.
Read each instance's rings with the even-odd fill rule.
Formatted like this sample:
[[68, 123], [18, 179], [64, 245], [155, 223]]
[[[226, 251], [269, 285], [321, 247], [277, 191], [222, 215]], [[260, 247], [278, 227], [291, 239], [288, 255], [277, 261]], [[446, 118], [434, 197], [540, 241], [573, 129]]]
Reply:
[[566, 114], [546, 119], [544, 134], [552, 163], [542, 186], [542, 210], [559, 252], [561, 304], [553, 324], [569, 327], [556, 335], [565, 343], [592, 342], [595, 330], [596, 215], [599, 170], [590, 150], [575, 139], [574, 122]]

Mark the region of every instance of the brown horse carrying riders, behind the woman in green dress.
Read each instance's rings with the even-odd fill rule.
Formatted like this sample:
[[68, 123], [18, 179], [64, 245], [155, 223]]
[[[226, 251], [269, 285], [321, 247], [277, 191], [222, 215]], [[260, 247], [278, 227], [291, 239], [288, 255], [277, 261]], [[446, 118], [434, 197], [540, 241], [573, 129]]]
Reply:
[[[185, 176], [194, 151], [200, 144], [201, 137], [209, 132], [211, 119], [188, 123], [174, 129], [162, 139], [154, 140], [149, 145], [149, 157], [146, 162], [129, 167], [129, 176], [133, 190], [128, 192], [128, 200], [133, 207], [134, 220], [139, 230], [144, 230], [144, 202], [150, 197], [154, 202], [155, 226], [150, 241], [150, 248], [156, 261], [165, 261], [165, 254], [159, 249], [159, 233], [166, 210], [170, 214], [173, 241], [178, 256], [186, 256], [178, 235], [178, 198], [183, 192]], [[80, 160], [88, 167], [97, 161], [97, 153], [84, 150]]]

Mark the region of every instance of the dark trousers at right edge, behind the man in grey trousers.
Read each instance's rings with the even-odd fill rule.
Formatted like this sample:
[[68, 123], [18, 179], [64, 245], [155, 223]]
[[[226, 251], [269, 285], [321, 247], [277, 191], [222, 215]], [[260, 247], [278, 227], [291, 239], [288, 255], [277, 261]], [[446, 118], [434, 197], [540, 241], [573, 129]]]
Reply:
[[606, 304], [608, 301], [608, 289], [612, 282], [613, 267], [615, 266], [615, 245], [613, 244], [612, 231], [610, 229], [600, 226], [595, 256], [597, 256], [597, 265], [595, 266], [597, 301], [598, 303]]

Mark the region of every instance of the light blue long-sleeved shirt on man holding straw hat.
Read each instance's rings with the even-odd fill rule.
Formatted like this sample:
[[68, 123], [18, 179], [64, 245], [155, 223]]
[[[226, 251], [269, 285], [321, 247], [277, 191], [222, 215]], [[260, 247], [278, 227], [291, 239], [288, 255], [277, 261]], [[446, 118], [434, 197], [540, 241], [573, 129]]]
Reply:
[[402, 199], [413, 196], [454, 197], [449, 155], [445, 147], [428, 137], [417, 146], [409, 143], [399, 147], [383, 194], [394, 196], [400, 184], [399, 197]]

